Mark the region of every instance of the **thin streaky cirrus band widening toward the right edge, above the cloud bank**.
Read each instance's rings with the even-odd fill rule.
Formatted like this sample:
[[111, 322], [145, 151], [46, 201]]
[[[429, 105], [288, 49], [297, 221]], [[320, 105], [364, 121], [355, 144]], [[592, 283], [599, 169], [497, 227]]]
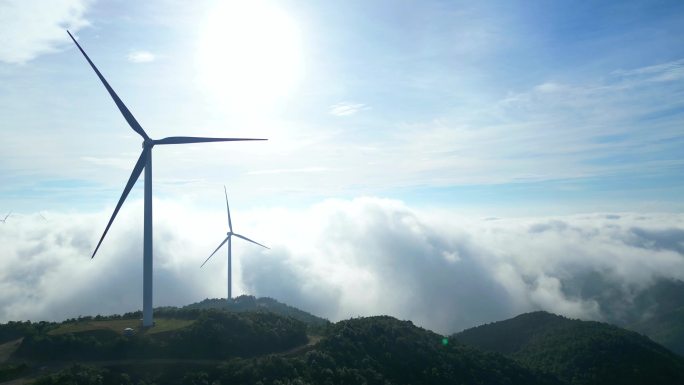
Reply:
[[[393, 152], [420, 159], [405, 170], [423, 183], [511, 183], [663, 173], [683, 164], [682, 61], [540, 81], [488, 105], [398, 127]], [[426, 180], [430, 176], [438, 176]]]

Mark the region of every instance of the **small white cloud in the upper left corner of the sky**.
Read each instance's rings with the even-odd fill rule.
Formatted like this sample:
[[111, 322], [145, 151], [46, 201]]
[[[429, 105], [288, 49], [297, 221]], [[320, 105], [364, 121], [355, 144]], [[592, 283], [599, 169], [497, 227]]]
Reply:
[[89, 25], [92, 0], [6, 0], [0, 2], [0, 61], [21, 64], [68, 45], [65, 32]]

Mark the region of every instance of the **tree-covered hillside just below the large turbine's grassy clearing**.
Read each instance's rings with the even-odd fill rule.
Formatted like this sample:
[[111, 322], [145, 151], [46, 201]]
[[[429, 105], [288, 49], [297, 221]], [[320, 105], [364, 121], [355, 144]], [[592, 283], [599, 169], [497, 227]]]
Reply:
[[[195, 313], [181, 311], [176, 316], [192, 317]], [[110, 320], [89, 322], [86, 328], [56, 325], [44, 333], [25, 335], [13, 357], [28, 361], [82, 362], [151, 358], [221, 360], [282, 352], [304, 345], [308, 340], [304, 323], [274, 313], [208, 309], [199, 311], [189, 321], [170, 322], [160, 318], [159, 327], [165, 324], [168, 330], [142, 329], [135, 335], [122, 333], [123, 328], [108, 328], [116, 325]], [[169, 328], [171, 324], [175, 325]]]

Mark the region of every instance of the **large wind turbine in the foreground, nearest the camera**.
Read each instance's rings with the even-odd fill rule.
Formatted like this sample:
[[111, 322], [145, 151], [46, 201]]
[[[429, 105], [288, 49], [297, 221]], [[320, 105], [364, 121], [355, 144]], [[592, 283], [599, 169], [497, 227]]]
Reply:
[[133, 167], [133, 172], [131, 173], [130, 178], [128, 178], [128, 183], [126, 183], [126, 187], [124, 188], [124, 191], [121, 194], [121, 198], [119, 198], [119, 202], [117, 203], [116, 208], [114, 209], [114, 213], [112, 214], [112, 217], [109, 219], [109, 223], [107, 223], [107, 227], [105, 227], [104, 233], [102, 234], [100, 241], [97, 243], [97, 247], [95, 247], [95, 251], [93, 251], [93, 255], [91, 258], [95, 257], [95, 253], [97, 253], [97, 250], [100, 248], [100, 245], [102, 244], [105, 235], [107, 235], [107, 231], [109, 231], [109, 227], [112, 225], [112, 222], [114, 222], [114, 218], [116, 217], [116, 214], [119, 212], [121, 205], [123, 205], [123, 202], [126, 200], [128, 193], [131, 191], [133, 185], [135, 185], [135, 182], [140, 177], [142, 170], [145, 169], [145, 220], [143, 238], [143, 327], [150, 327], [154, 325], [154, 322], [152, 320], [152, 147], [158, 144], [231, 142], [240, 140], [266, 139], [198, 138], [191, 136], [171, 136], [164, 139], [150, 138], [145, 132], [145, 130], [143, 130], [143, 128], [140, 126], [138, 121], [135, 120], [133, 114], [131, 114], [131, 112], [124, 105], [121, 99], [119, 99], [119, 96], [114, 92], [112, 87], [109, 86], [107, 80], [105, 80], [104, 76], [102, 76], [97, 67], [95, 67], [95, 64], [93, 64], [88, 55], [86, 55], [85, 51], [83, 51], [83, 48], [81, 48], [76, 39], [74, 39], [74, 37], [71, 35], [71, 32], [67, 31], [67, 33], [69, 34], [69, 37], [71, 37], [71, 40], [73, 40], [76, 44], [76, 47], [78, 47], [78, 50], [81, 51], [85, 59], [88, 61], [88, 64], [90, 64], [90, 66], [93, 68], [93, 71], [95, 71], [97, 77], [100, 78], [100, 81], [102, 81], [102, 84], [107, 89], [107, 92], [109, 92], [109, 95], [112, 97], [112, 99], [114, 99], [114, 103], [119, 108], [119, 111], [121, 111], [121, 114], [124, 116], [124, 119], [126, 119], [126, 122], [128, 122], [128, 125], [131, 126], [133, 131], [137, 132], [138, 135], [140, 135], [143, 138], [142, 153], [140, 154], [138, 161], [135, 163], [135, 167]]

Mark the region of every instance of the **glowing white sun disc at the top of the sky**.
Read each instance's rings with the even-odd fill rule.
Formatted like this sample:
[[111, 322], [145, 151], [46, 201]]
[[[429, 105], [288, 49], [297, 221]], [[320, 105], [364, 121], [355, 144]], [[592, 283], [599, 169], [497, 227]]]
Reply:
[[232, 110], [263, 110], [288, 97], [302, 68], [294, 20], [264, 1], [217, 3], [202, 26], [200, 83]]

